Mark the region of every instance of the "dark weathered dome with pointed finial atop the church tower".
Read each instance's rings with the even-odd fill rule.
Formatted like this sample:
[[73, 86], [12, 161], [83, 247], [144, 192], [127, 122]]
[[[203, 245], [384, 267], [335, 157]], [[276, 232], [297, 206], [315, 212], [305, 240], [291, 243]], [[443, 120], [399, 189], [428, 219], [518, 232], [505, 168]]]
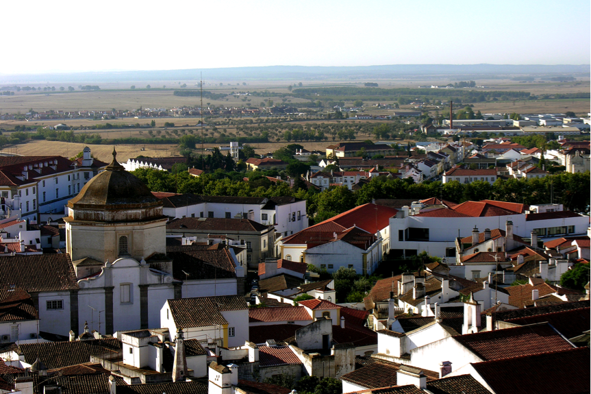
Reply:
[[134, 208], [162, 204], [138, 177], [125, 171], [117, 162], [116, 156], [117, 152], [113, 148], [111, 164], [84, 185], [76, 197], [68, 201], [69, 207]]

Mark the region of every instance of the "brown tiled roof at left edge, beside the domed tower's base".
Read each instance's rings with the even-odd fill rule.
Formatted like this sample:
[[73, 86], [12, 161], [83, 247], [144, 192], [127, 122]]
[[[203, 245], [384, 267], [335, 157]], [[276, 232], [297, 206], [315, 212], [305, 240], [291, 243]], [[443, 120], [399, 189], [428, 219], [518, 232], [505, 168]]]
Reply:
[[28, 293], [79, 288], [70, 255], [66, 253], [0, 256], [0, 288], [11, 285]]

